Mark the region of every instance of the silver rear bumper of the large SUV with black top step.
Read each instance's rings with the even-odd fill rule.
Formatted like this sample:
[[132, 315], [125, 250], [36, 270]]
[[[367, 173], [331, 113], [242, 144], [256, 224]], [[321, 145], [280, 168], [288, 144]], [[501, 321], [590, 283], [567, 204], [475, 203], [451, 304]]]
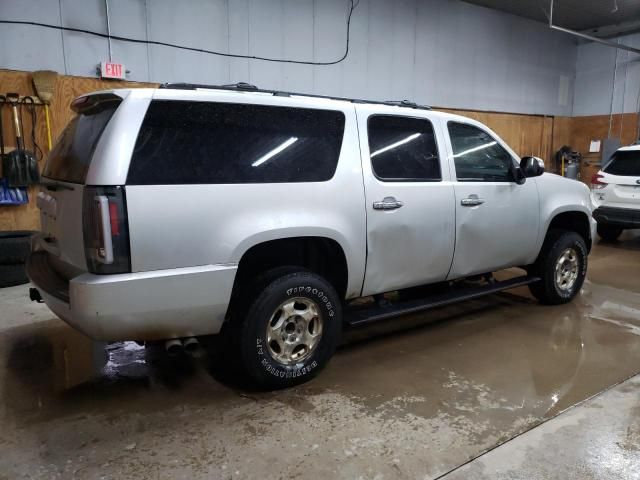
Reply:
[[121, 275], [84, 273], [66, 281], [49, 266], [46, 252], [34, 252], [27, 261], [27, 274], [47, 306], [102, 341], [218, 333], [236, 270], [236, 265], [204, 265]]

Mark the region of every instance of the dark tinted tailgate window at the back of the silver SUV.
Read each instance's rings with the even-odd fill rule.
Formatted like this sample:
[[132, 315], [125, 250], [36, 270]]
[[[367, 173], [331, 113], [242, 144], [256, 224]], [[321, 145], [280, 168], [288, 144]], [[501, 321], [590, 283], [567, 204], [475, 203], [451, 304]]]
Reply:
[[91, 157], [107, 123], [122, 99], [115, 95], [92, 95], [69, 122], [49, 154], [43, 175], [53, 180], [84, 183]]

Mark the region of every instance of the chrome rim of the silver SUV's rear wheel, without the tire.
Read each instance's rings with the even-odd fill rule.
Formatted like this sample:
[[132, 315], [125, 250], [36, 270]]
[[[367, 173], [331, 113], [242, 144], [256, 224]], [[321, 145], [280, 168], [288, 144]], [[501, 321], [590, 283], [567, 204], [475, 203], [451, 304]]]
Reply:
[[309, 357], [322, 338], [323, 318], [318, 304], [308, 298], [290, 298], [273, 312], [267, 324], [267, 350], [282, 365]]

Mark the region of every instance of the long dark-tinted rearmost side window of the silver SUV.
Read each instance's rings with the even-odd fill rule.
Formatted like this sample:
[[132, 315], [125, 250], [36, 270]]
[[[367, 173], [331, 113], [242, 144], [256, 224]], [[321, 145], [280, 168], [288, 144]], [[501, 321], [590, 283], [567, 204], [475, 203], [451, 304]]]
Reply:
[[338, 165], [342, 112], [151, 102], [127, 184], [323, 182]]

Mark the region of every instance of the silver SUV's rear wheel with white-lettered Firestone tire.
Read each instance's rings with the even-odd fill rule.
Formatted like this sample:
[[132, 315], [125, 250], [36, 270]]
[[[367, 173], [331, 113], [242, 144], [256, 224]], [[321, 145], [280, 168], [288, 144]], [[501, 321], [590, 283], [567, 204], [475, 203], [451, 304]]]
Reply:
[[334, 288], [319, 275], [289, 269], [270, 272], [260, 287], [248, 291], [254, 296], [245, 297], [248, 307], [229, 329], [239, 336], [244, 372], [264, 389], [312, 379], [333, 355], [342, 331]]

